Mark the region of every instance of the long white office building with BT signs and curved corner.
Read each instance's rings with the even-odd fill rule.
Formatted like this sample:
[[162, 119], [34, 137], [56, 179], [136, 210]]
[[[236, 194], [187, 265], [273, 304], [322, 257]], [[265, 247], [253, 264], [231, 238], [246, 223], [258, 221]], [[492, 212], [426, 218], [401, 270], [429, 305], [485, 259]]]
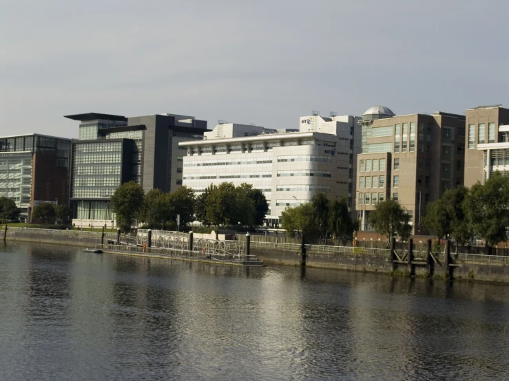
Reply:
[[308, 202], [318, 192], [331, 200], [349, 197], [353, 206], [358, 119], [302, 117], [299, 130], [218, 124], [205, 140], [179, 143], [187, 148], [183, 185], [199, 194], [210, 184], [253, 184], [269, 201], [269, 226], [278, 226], [284, 208]]

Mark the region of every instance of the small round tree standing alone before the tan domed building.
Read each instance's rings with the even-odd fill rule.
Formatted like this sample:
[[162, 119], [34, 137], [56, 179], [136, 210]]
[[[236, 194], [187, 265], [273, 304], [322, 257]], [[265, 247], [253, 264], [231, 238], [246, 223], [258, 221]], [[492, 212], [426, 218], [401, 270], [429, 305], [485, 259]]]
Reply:
[[412, 231], [412, 227], [408, 224], [410, 217], [406, 209], [393, 199], [379, 202], [375, 210], [369, 214], [368, 221], [375, 226], [378, 234], [387, 237], [387, 242], [395, 236], [396, 232], [403, 240], [406, 240]]

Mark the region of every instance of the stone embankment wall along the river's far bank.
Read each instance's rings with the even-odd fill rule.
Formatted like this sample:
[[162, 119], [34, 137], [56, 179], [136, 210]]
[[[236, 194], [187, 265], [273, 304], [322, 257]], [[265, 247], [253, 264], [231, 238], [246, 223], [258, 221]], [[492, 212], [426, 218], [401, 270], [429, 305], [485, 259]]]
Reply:
[[[76, 230], [48, 230], [32, 228], [8, 228], [0, 230], [0, 239], [6, 241], [28, 241], [60, 245], [94, 248], [107, 240], [114, 239], [114, 233], [81, 232]], [[375, 248], [343, 248], [340, 246], [308, 246], [306, 265], [309, 268], [373, 272], [410, 276], [411, 268], [404, 263], [395, 265], [391, 261], [391, 250]], [[255, 255], [267, 265], [302, 265], [300, 245], [291, 243], [250, 244], [250, 254]], [[404, 252], [399, 252], [404, 257]], [[426, 266], [415, 267], [415, 276], [448, 279], [449, 274], [442, 266], [444, 257], [435, 253], [440, 265], [435, 264], [433, 274]], [[488, 281], [509, 284], [509, 257], [488, 256], [481, 254], [459, 254], [454, 259], [453, 279], [461, 281]]]

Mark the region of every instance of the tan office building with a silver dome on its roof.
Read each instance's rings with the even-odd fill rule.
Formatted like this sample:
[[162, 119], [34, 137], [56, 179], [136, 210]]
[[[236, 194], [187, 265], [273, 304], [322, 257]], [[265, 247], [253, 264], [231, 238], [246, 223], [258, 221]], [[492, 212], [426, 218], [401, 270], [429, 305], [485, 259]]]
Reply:
[[465, 116], [436, 112], [396, 116], [375, 106], [360, 120], [362, 153], [357, 155], [356, 210], [360, 230], [368, 215], [388, 197], [408, 210], [413, 234], [426, 205], [450, 188], [464, 184]]

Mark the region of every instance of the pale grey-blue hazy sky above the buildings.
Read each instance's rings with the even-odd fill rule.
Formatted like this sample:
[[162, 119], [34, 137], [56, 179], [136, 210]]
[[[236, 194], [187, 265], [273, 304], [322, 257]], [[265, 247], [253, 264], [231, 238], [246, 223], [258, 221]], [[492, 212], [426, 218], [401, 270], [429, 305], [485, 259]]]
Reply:
[[0, 135], [85, 112], [298, 128], [509, 107], [507, 0], [0, 0]]

